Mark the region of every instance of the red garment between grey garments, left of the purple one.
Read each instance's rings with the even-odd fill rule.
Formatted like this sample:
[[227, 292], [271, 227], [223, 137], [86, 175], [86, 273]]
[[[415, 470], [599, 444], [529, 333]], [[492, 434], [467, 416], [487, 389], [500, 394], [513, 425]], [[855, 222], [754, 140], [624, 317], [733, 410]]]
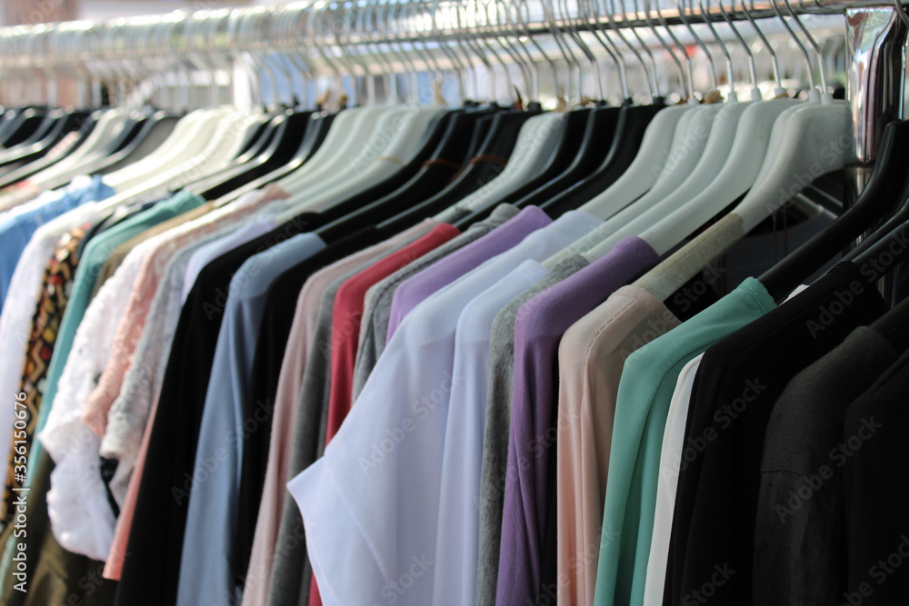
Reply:
[[[460, 233], [454, 225], [438, 224], [415, 242], [385, 256], [341, 284], [335, 294], [335, 306], [332, 308], [332, 382], [328, 395], [328, 429], [325, 432], [325, 444], [335, 437], [354, 403], [352, 402], [354, 364], [360, 340], [360, 322], [363, 319], [366, 291], [373, 284], [385, 280], [392, 273]], [[309, 606], [322, 606], [322, 597], [315, 585], [315, 575], [309, 586]]]

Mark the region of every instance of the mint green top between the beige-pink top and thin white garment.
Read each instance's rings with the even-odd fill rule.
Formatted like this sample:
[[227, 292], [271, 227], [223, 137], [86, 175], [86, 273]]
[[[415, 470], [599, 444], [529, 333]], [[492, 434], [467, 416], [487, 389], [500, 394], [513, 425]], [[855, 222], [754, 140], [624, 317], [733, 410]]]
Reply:
[[669, 402], [686, 363], [774, 309], [754, 278], [628, 356], [615, 402], [595, 606], [644, 603]]

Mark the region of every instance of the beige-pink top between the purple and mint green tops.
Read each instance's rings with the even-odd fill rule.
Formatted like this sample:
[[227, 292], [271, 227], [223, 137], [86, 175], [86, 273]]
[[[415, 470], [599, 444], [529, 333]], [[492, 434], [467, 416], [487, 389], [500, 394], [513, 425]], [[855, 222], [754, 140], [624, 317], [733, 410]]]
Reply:
[[615, 399], [625, 359], [679, 325], [636, 286], [615, 291], [559, 344], [556, 472], [558, 604], [594, 603]]

